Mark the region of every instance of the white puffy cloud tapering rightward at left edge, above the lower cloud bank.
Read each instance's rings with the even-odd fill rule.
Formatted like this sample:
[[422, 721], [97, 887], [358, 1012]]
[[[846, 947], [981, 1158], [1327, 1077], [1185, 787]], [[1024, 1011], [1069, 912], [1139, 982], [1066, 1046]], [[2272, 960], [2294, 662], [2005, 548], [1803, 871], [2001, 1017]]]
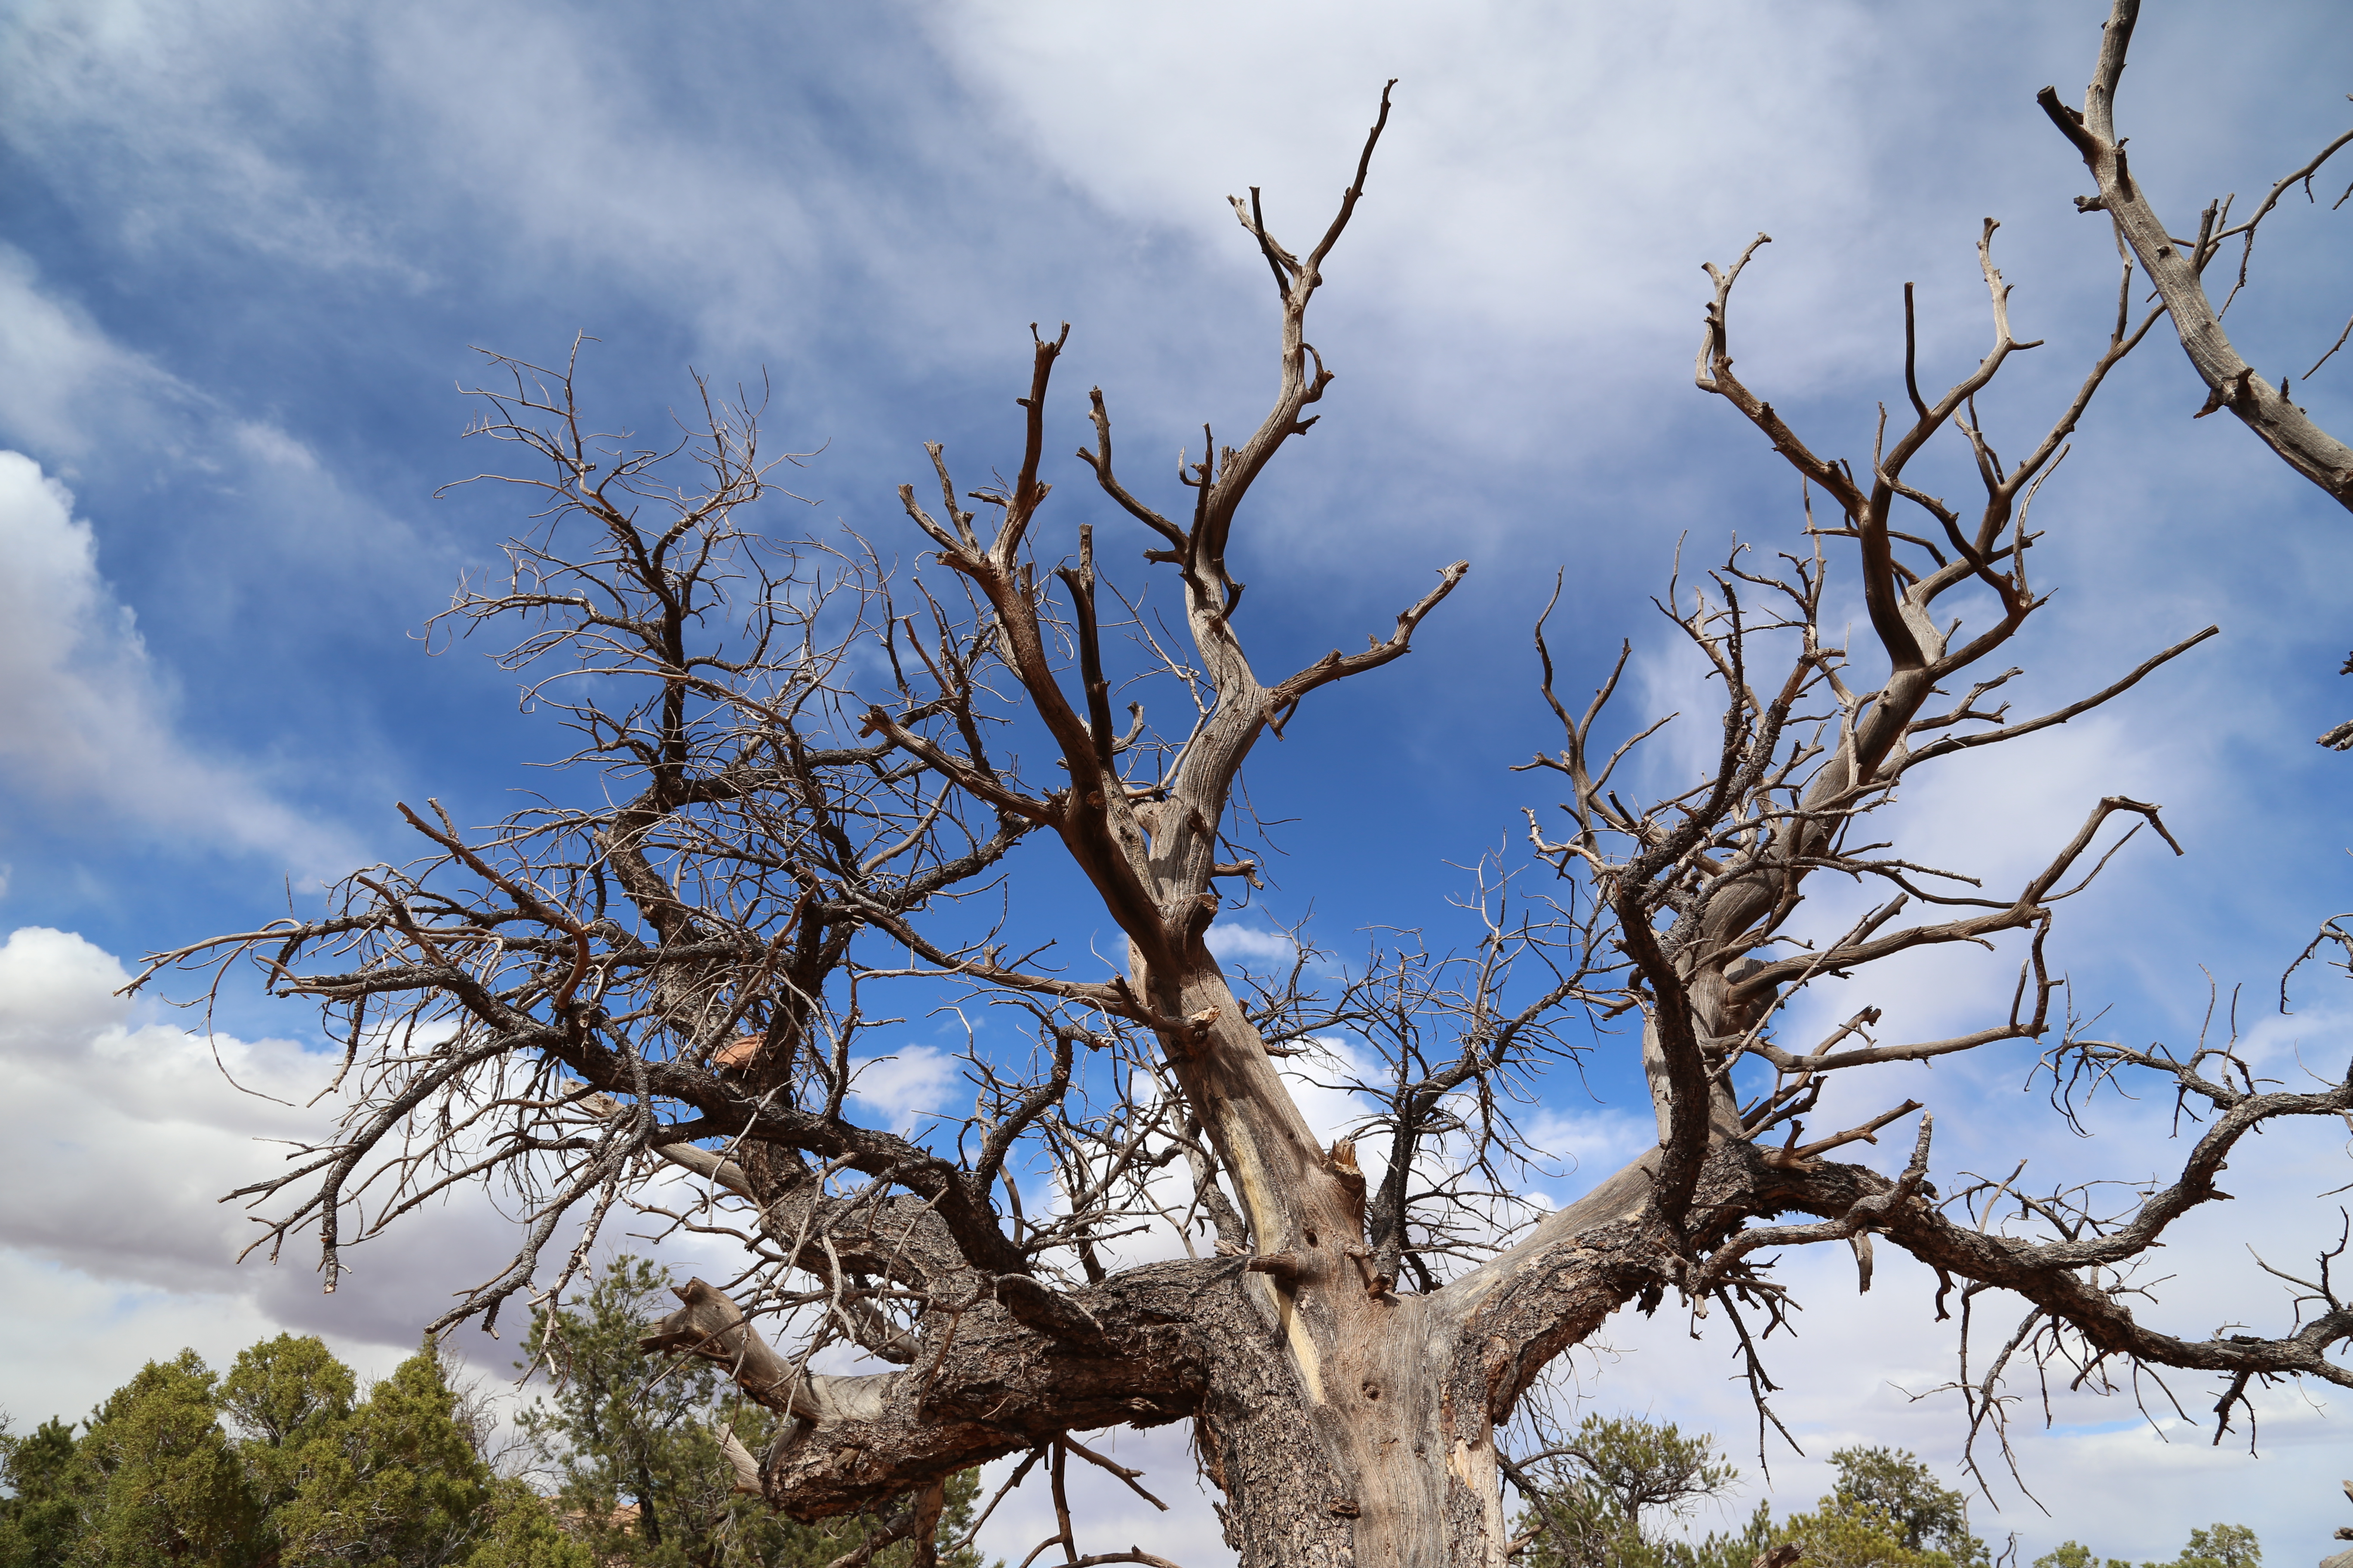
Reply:
[[351, 865], [339, 832], [205, 755], [172, 708], [134, 614], [99, 576], [73, 494], [33, 458], [0, 451], [0, 769], [141, 837], [261, 853], [296, 872]]

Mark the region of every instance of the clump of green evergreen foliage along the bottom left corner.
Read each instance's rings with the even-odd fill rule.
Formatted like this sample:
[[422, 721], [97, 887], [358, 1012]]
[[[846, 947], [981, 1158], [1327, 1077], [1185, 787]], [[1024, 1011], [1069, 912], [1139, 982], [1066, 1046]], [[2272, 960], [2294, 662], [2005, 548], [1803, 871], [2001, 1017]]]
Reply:
[[[558, 1314], [558, 1378], [520, 1422], [553, 1497], [492, 1467], [431, 1340], [362, 1392], [320, 1340], [280, 1333], [226, 1378], [193, 1349], [148, 1361], [80, 1436], [0, 1425], [0, 1568], [819, 1568], [856, 1547], [866, 1521], [812, 1528], [732, 1495], [722, 1422], [758, 1450], [765, 1410], [638, 1354], [666, 1284], [621, 1258]], [[948, 1486], [939, 1540], [969, 1533], [976, 1486]], [[939, 1563], [981, 1568], [969, 1547]]]

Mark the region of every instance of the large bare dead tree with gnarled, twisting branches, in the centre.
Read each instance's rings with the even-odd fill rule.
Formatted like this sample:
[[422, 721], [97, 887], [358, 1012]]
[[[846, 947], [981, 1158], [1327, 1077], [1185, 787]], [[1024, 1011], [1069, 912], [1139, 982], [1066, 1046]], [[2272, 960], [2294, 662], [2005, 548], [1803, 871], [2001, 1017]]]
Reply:
[[[1191, 1422], [1245, 1563], [1501, 1563], [1513, 1462], [1497, 1432], [1544, 1371], [1612, 1312], [1673, 1302], [1720, 1309], [1762, 1392], [1758, 1340], [1786, 1305], [1767, 1251], [1802, 1244], [1852, 1246], [1866, 1286], [1875, 1239], [1908, 1251], [1946, 1281], [1939, 1316], [1953, 1293], [1965, 1321], [2000, 1302], [2024, 1314], [1967, 1389], [1979, 1425], [1998, 1427], [2002, 1378], [2031, 1361], [2094, 1382], [2212, 1373], [2224, 1422], [2254, 1380], [2353, 1385], [2329, 1359], [2353, 1307], [2327, 1260], [2266, 1335], [2169, 1333], [2118, 1295], [2134, 1258], [2221, 1197], [2247, 1133], [2353, 1112], [2353, 1081], [2261, 1084], [2228, 1046], [2068, 1030], [2047, 961], [2059, 903], [2132, 832], [2169, 844], [2158, 806], [2085, 802], [2042, 870], [2002, 889], [1873, 839], [1920, 769], [2089, 712], [2214, 630], [2042, 715], [2000, 701], [2019, 675], [2005, 649], [2049, 614], [2028, 505], [2155, 322], [2134, 320], [2129, 261], [2113, 331], [2014, 461], [1979, 421], [2033, 348], [2012, 336], [1991, 223], [1986, 355], [1929, 395], [1906, 348], [1904, 404], [1854, 463], [1819, 456], [1734, 374], [1734, 284], [1765, 240], [1711, 268], [1699, 388], [1826, 510], [1774, 559], [1739, 548], [1661, 599], [1722, 693], [1708, 766], [1626, 804], [1614, 778], [1657, 724], [1609, 729], [1624, 656], [1588, 705], [1560, 701], [1539, 621], [1560, 741], [1527, 766], [1560, 778], [1565, 816], [1532, 820], [1518, 882], [1489, 877], [1471, 900], [1468, 947], [1400, 943], [1337, 987], [1304, 959], [1247, 985], [1217, 964], [1219, 889], [1257, 875], [1235, 799], [1252, 748], [1320, 689], [1402, 658], [1468, 569], [1402, 595], [1355, 654], [1266, 675], [1245, 644], [1231, 541], [1332, 386], [1306, 315], [1386, 115], [1384, 94], [1311, 249], [1273, 237], [1257, 190], [1235, 202], [1275, 284], [1275, 400], [1238, 444], [1202, 433], [1172, 491], [1184, 505], [1162, 510], [1115, 465], [1111, 404], [1089, 395], [1078, 456], [1174, 597], [1167, 621], [1148, 588], [1099, 571], [1089, 529], [1045, 534], [1068, 329], [1033, 331], [1009, 480], [960, 489], [932, 447], [936, 498], [901, 489], [934, 562], [906, 581], [880, 545], [753, 527], [769, 468], [751, 409], [706, 404], [664, 454], [593, 435], [569, 369], [499, 362], [511, 383], [487, 395], [482, 433], [541, 463], [518, 482], [546, 522], [513, 548], [511, 581], [452, 614], [536, 618], [511, 661], [576, 729], [574, 773], [489, 830], [409, 811], [416, 865], [353, 875], [325, 919], [148, 971], [245, 954], [275, 992], [320, 999], [346, 1041], [341, 1131], [247, 1192], [268, 1206], [271, 1251], [315, 1229], [332, 1288], [339, 1248], [487, 1182], [522, 1241], [452, 1324], [562, 1291], [621, 1208], [729, 1234], [741, 1272], [685, 1286], [647, 1342], [720, 1361], [788, 1415], [767, 1453], [739, 1455], [746, 1488], [922, 1537], [946, 1476], [1026, 1453], [1016, 1479], [1042, 1465], [1064, 1521], [1049, 1544], [1089, 1563], [1158, 1559], [1080, 1556], [1068, 1460], [1136, 1476], [1078, 1434], [1165, 1422]], [[1932, 442], [1965, 456], [1967, 503], [1913, 477]], [[704, 477], [671, 484], [680, 461]], [[1868, 607], [1857, 649], [1826, 625], [1835, 576]], [[1115, 712], [1129, 689], [1155, 693], [1151, 710]], [[1054, 929], [1073, 922], [1019, 900], [1024, 867], [1054, 856], [1092, 889], [1080, 924], [1113, 922], [1125, 952], [1061, 952]], [[1807, 898], [1824, 875], [1885, 898], [1828, 919]], [[1866, 1006], [1824, 1039], [1786, 1037], [1788, 1001], [1828, 976], [1868, 987], [1892, 954], [2002, 938], [2017, 985], [1967, 1034], [1882, 1039]], [[859, 1065], [906, 1039], [894, 1009], [944, 997], [972, 1020], [972, 1114], [915, 1135], [861, 1124]], [[1365, 1124], [1322, 1143], [1285, 1070], [1344, 1072], [1318, 1056], [1334, 1032], [1386, 1067], [1353, 1079]], [[1897, 1175], [1840, 1159], [1915, 1103], [1805, 1126], [1833, 1074], [2005, 1041], [2028, 1041], [2061, 1110], [2137, 1077], [2181, 1095], [2205, 1121], [2179, 1173], [2115, 1213], [2014, 1180], [1948, 1178], [1939, 1197], [1925, 1112]], [[1534, 1211], [1515, 1095], [1586, 1051], [1640, 1051], [1659, 1140], [1569, 1208]], [[1169, 1260], [1122, 1262], [1139, 1232]], [[882, 1366], [812, 1371], [826, 1345]]]

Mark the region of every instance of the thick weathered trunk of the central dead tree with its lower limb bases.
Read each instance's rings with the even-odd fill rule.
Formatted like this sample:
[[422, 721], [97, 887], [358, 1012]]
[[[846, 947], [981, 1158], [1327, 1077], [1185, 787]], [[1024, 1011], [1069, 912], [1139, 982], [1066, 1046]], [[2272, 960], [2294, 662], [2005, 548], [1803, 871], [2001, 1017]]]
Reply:
[[[760, 1483], [800, 1519], [882, 1507], [1066, 1432], [1191, 1420], [1245, 1568], [1501, 1568], [1494, 1427], [1546, 1361], [1635, 1295], [1654, 1300], [1661, 1258], [1680, 1251], [1647, 1211], [1657, 1154], [1433, 1295], [1377, 1291], [1365, 1178], [1346, 1145], [1315, 1143], [1217, 961], [1195, 945], [1179, 983], [1151, 980], [1139, 969], [1162, 1016], [1198, 1020], [1169, 1060], [1233, 1175], [1247, 1258], [1141, 1265], [1068, 1293], [998, 1276], [969, 1307], [927, 1314], [906, 1371], [866, 1378], [793, 1373], [701, 1281], [645, 1345], [722, 1361], [793, 1415]], [[1746, 1145], [1734, 1157], [1753, 1164]], [[805, 1190], [762, 1197], [779, 1239], [807, 1225]], [[925, 1248], [920, 1227], [904, 1234]]]

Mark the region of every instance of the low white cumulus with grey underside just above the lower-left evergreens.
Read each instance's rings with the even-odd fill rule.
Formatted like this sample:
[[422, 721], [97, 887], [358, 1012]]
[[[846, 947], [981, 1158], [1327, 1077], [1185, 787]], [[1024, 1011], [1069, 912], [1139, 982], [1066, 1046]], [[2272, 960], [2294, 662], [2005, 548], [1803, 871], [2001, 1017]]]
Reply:
[[[0, 1291], [19, 1347], [0, 1371], [16, 1413], [73, 1415], [148, 1356], [195, 1345], [219, 1363], [280, 1328], [388, 1371], [386, 1354], [412, 1347], [452, 1288], [499, 1265], [506, 1222], [466, 1197], [409, 1215], [346, 1253], [334, 1295], [320, 1293], [304, 1244], [275, 1267], [238, 1265], [256, 1227], [221, 1197], [275, 1173], [285, 1140], [329, 1128], [332, 1103], [311, 1100], [334, 1060], [158, 1023], [115, 994], [127, 980], [68, 931], [21, 926], [0, 945]], [[87, 1354], [61, 1359], [75, 1345]], [[26, 1347], [40, 1347], [40, 1366]], [[473, 1333], [459, 1347], [506, 1356]]]

